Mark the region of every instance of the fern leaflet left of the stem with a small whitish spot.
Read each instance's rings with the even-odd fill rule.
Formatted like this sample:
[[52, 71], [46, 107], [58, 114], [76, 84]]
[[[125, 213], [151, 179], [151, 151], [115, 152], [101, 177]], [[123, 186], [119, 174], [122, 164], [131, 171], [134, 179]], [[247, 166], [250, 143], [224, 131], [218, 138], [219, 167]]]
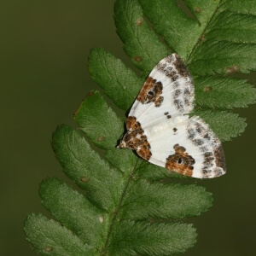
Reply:
[[40, 186], [39, 193], [44, 207], [61, 224], [75, 231], [84, 243], [94, 247], [103, 244], [102, 237], [108, 234], [106, 212], [95, 207], [79, 192], [56, 178], [45, 180]]

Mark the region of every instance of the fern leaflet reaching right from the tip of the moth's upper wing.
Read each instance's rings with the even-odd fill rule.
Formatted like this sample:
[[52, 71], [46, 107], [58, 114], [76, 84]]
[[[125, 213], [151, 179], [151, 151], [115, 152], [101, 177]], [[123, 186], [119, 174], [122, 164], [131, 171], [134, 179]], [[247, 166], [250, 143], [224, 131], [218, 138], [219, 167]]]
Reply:
[[193, 52], [189, 70], [195, 75], [249, 73], [256, 70], [256, 44], [207, 40]]

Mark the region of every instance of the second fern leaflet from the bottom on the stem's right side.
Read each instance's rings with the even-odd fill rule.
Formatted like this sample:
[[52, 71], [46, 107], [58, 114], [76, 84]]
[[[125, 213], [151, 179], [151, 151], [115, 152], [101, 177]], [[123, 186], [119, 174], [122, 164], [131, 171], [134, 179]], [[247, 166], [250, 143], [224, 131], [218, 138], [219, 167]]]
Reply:
[[212, 195], [205, 188], [138, 180], [131, 181], [119, 214], [122, 219], [177, 219], [198, 216], [209, 207], [212, 207]]

